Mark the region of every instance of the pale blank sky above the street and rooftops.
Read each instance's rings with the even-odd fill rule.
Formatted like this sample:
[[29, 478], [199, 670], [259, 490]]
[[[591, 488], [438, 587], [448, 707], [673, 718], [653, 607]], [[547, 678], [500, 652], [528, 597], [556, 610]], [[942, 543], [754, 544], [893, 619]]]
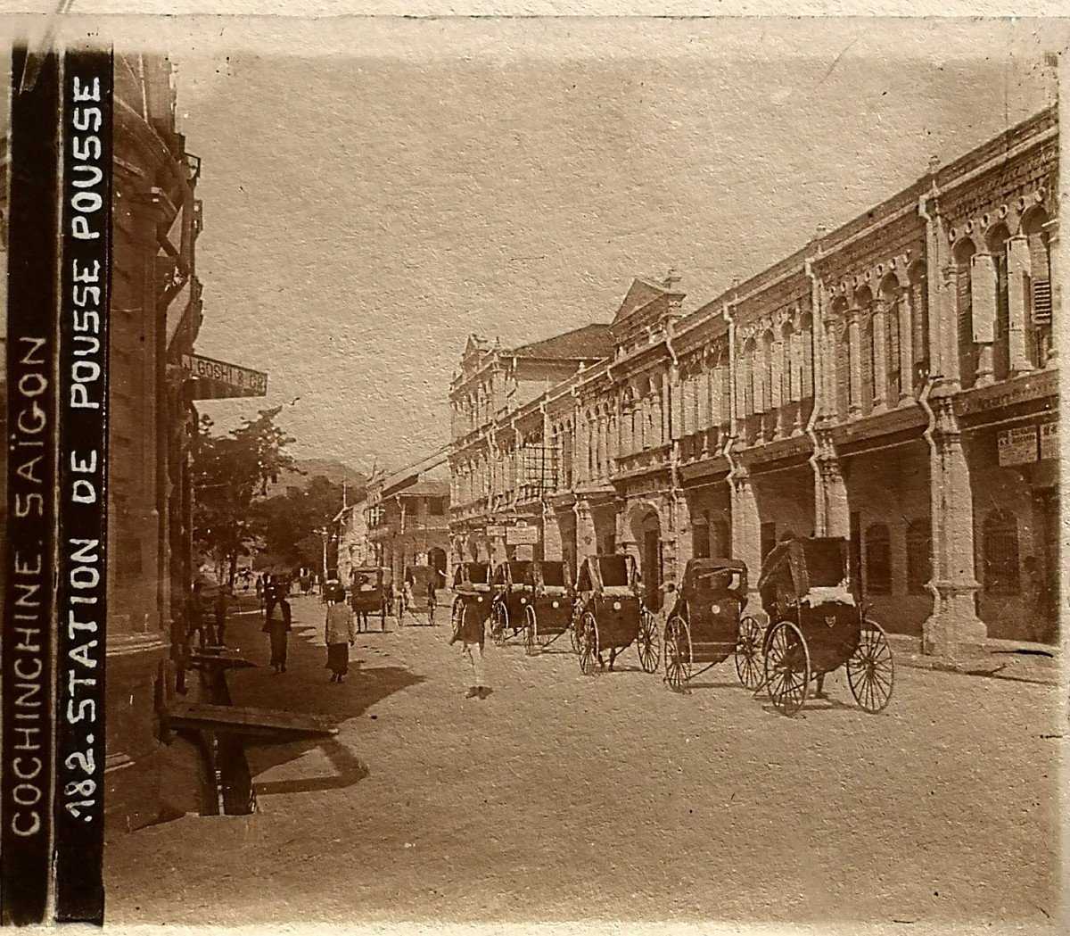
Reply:
[[608, 322], [670, 268], [696, 307], [1052, 88], [1025, 21], [235, 32], [173, 49], [203, 161], [197, 350], [269, 372], [269, 396], [204, 409], [229, 428], [284, 404], [296, 455], [360, 468], [448, 440], [470, 333]]

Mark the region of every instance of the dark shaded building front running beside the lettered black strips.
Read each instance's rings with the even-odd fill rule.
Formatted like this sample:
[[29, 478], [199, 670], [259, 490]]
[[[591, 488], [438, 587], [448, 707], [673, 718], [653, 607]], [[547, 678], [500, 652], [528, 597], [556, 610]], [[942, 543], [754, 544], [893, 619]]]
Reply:
[[198, 796], [195, 759], [183, 772], [157, 737], [193, 575], [196, 412], [179, 362], [201, 321], [200, 162], [175, 130], [172, 75], [162, 57], [116, 57], [105, 769], [112, 830], [195, 807]]

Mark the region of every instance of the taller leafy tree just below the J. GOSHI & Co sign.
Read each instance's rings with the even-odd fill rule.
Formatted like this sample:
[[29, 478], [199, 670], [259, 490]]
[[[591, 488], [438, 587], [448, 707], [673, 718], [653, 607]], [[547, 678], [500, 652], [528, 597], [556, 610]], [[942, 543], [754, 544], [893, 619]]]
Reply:
[[225, 436], [213, 436], [202, 416], [194, 447], [194, 542], [227, 568], [233, 585], [238, 558], [256, 541], [255, 503], [286, 470], [294, 470], [286, 447], [295, 439], [275, 425], [281, 407], [262, 409], [255, 420]]

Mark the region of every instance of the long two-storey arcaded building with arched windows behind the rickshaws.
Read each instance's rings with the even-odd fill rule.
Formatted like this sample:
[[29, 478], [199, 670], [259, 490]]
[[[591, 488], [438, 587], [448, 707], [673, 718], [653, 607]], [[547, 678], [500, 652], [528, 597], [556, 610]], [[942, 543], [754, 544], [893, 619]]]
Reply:
[[[872, 617], [927, 652], [1054, 639], [1057, 173], [1052, 108], [700, 307], [636, 280], [600, 360], [464, 395], [454, 555], [628, 550], [657, 608], [692, 556], [744, 559], [753, 589], [780, 539], [842, 535]], [[455, 412], [504, 382], [484, 354]]]

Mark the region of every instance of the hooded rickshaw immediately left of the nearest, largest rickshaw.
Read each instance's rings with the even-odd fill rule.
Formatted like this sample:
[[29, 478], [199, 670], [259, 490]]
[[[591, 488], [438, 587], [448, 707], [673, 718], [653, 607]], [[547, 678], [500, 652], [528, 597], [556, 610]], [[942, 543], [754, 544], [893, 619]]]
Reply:
[[[743, 614], [747, 565], [738, 559], [689, 559], [664, 630], [664, 683], [677, 692], [712, 666], [735, 658], [747, 689], [762, 684], [763, 629]], [[698, 668], [696, 668], [698, 667]]]

